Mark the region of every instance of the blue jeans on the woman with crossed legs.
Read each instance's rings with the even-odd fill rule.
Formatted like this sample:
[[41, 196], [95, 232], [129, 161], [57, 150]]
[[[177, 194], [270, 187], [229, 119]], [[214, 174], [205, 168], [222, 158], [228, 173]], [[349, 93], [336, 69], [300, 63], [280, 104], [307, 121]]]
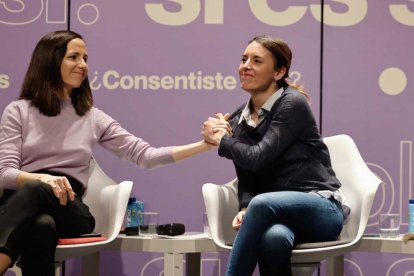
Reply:
[[336, 240], [341, 233], [341, 204], [303, 192], [270, 192], [249, 203], [230, 253], [227, 276], [290, 276], [290, 257], [298, 243]]

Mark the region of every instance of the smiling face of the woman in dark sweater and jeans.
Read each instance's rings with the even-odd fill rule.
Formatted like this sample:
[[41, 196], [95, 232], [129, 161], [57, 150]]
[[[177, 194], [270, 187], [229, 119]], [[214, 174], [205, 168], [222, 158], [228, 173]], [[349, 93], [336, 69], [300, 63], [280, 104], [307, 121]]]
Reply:
[[239, 66], [241, 88], [250, 93], [275, 91], [275, 62], [272, 53], [253, 41], [247, 45]]

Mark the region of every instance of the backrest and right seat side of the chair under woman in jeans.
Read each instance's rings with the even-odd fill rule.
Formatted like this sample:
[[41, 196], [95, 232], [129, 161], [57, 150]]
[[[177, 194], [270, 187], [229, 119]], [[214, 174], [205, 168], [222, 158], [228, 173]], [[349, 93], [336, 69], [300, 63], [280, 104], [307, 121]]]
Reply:
[[299, 244], [292, 252], [292, 264], [317, 263], [352, 251], [362, 239], [375, 194], [382, 183], [368, 168], [351, 137], [341, 134], [323, 140], [351, 214], [338, 241]]

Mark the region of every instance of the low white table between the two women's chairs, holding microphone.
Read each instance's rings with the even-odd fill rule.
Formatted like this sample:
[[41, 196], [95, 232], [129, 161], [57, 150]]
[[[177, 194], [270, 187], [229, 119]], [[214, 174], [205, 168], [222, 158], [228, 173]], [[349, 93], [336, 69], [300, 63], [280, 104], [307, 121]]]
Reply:
[[164, 276], [200, 275], [201, 253], [224, 251], [202, 233], [174, 238], [121, 234], [105, 250], [164, 253]]

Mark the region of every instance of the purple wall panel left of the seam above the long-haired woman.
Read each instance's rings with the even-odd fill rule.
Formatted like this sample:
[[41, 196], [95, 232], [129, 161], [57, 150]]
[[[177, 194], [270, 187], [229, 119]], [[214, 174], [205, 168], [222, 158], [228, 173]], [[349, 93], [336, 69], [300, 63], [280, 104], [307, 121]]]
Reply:
[[41, 0], [20, 2], [0, 3], [1, 111], [19, 96], [37, 41], [49, 31], [67, 28], [66, 0], [53, 3]]

